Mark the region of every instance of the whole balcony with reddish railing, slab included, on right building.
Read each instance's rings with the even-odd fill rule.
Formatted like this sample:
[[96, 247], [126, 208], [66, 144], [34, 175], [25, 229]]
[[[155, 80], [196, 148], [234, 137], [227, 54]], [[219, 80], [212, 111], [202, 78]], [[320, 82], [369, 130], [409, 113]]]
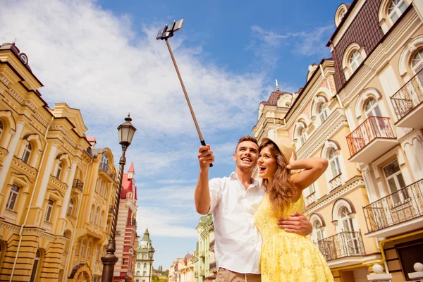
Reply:
[[347, 136], [349, 161], [369, 164], [398, 144], [389, 118], [369, 116]]

